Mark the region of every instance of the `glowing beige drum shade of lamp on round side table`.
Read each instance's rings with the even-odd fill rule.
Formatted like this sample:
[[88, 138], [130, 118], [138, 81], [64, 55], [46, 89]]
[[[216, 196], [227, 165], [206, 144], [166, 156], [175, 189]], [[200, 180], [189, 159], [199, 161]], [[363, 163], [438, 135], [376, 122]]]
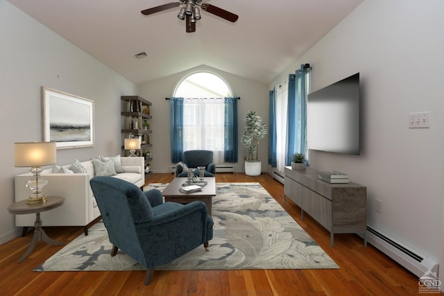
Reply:
[[15, 166], [46, 166], [56, 162], [56, 142], [14, 143]]

